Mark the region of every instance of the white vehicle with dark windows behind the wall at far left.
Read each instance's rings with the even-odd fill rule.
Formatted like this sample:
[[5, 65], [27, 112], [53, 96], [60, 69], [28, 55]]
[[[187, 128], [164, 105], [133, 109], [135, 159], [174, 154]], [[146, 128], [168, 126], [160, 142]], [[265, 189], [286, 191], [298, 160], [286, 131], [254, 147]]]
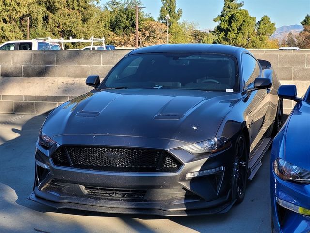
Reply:
[[61, 47], [43, 40], [13, 40], [0, 45], [0, 50], [61, 50]]

